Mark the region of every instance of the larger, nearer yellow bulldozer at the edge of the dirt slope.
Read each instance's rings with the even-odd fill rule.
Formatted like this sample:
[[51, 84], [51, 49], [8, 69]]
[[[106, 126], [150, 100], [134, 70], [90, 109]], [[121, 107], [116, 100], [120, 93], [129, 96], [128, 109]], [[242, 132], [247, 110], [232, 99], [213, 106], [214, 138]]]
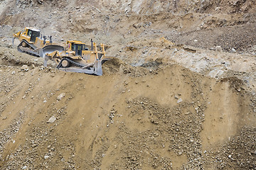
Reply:
[[46, 53], [44, 66], [48, 60], [57, 64], [57, 68], [65, 72], [80, 72], [102, 76], [102, 64], [113, 57], [106, 57], [105, 45], [100, 44], [101, 51], [97, 50], [97, 44], [91, 40], [91, 49], [81, 41], [68, 40], [65, 50]]

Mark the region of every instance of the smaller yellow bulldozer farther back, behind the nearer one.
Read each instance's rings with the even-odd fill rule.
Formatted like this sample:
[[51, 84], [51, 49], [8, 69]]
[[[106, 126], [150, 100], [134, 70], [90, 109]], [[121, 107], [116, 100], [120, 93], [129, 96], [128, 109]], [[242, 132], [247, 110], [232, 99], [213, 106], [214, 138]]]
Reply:
[[59, 52], [64, 50], [64, 47], [52, 42], [52, 36], [49, 36], [50, 40], [46, 40], [47, 37], [42, 35], [40, 30], [36, 28], [26, 27], [25, 30], [19, 31], [14, 34], [12, 43], [14, 45], [15, 38], [20, 41], [17, 49], [19, 52], [25, 52], [28, 55], [36, 57], [44, 57], [46, 53], [58, 50]]

